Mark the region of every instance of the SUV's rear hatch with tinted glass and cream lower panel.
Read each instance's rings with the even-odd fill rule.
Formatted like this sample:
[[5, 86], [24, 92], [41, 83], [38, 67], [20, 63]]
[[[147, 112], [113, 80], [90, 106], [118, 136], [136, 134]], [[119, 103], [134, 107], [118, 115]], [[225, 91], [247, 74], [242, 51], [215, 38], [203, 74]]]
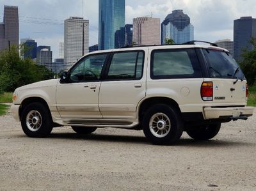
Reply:
[[[202, 49], [212, 82], [212, 103], [246, 104], [246, 79], [232, 55], [219, 48]], [[225, 104], [226, 105], [226, 104]]]

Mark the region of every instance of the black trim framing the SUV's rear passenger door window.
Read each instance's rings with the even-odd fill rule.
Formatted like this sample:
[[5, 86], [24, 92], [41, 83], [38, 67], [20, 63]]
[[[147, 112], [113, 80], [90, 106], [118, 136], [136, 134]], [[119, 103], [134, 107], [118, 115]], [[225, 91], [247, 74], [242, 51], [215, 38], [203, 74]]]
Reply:
[[[128, 52], [137, 52], [135, 71], [137, 70], [139, 54], [140, 54], [140, 52], [142, 52], [142, 54], [143, 54], [142, 66], [141, 66], [141, 77], [140, 77], [140, 79], [136, 79], [136, 75], [135, 75], [135, 78], [130, 78], [130, 79], [108, 79], [108, 72], [109, 72], [109, 68], [110, 68], [111, 62], [112, 62], [112, 60], [113, 60], [114, 54], [128, 53]], [[145, 65], [145, 50], [139, 49], [139, 50], [121, 50], [121, 51], [113, 51], [113, 52], [111, 52], [111, 54], [110, 54], [110, 56], [109, 56], [108, 63], [106, 64], [106, 70], [105, 70], [105, 72], [104, 72], [104, 75], [102, 76], [102, 81], [108, 81], [108, 82], [109, 82], [109, 81], [141, 80], [141, 79], [143, 78], [143, 75], [144, 75], [144, 65]], [[136, 71], [136, 72], [137, 72], [137, 71]]]

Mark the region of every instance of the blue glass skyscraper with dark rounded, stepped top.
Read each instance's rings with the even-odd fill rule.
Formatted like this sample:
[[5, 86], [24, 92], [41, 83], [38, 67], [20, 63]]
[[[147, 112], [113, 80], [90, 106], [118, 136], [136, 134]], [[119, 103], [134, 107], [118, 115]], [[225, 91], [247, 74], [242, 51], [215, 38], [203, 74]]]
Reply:
[[194, 40], [194, 27], [188, 15], [183, 10], [174, 10], [167, 15], [161, 24], [161, 43], [165, 44], [166, 38], [172, 38], [175, 43], [184, 43]]

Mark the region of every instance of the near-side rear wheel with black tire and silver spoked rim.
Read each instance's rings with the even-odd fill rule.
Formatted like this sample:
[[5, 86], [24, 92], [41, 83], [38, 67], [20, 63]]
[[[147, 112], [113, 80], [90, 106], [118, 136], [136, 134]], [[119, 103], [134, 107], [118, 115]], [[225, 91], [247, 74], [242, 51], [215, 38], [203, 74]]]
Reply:
[[142, 125], [145, 136], [153, 144], [159, 145], [177, 142], [184, 128], [180, 112], [175, 107], [165, 104], [150, 107], [143, 117]]

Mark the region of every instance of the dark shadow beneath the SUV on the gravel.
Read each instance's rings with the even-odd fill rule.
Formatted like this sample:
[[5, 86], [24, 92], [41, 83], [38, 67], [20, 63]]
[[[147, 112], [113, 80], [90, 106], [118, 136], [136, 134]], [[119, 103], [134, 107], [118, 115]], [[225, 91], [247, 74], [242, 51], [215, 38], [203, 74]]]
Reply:
[[[73, 133], [54, 133], [49, 135], [47, 139], [70, 139], [70, 140], [84, 140], [84, 141], [101, 141], [101, 142], [129, 142], [133, 144], [151, 144], [146, 137], [132, 136], [132, 135], [102, 135], [102, 134], [90, 134], [79, 135]], [[209, 141], [196, 141], [188, 138], [181, 138], [174, 146], [193, 146], [193, 147], [237, 147], [237, 146], [252, 146], [252, 142], [239, 142], [239, 141], [227, 141], [211, 139]]]

